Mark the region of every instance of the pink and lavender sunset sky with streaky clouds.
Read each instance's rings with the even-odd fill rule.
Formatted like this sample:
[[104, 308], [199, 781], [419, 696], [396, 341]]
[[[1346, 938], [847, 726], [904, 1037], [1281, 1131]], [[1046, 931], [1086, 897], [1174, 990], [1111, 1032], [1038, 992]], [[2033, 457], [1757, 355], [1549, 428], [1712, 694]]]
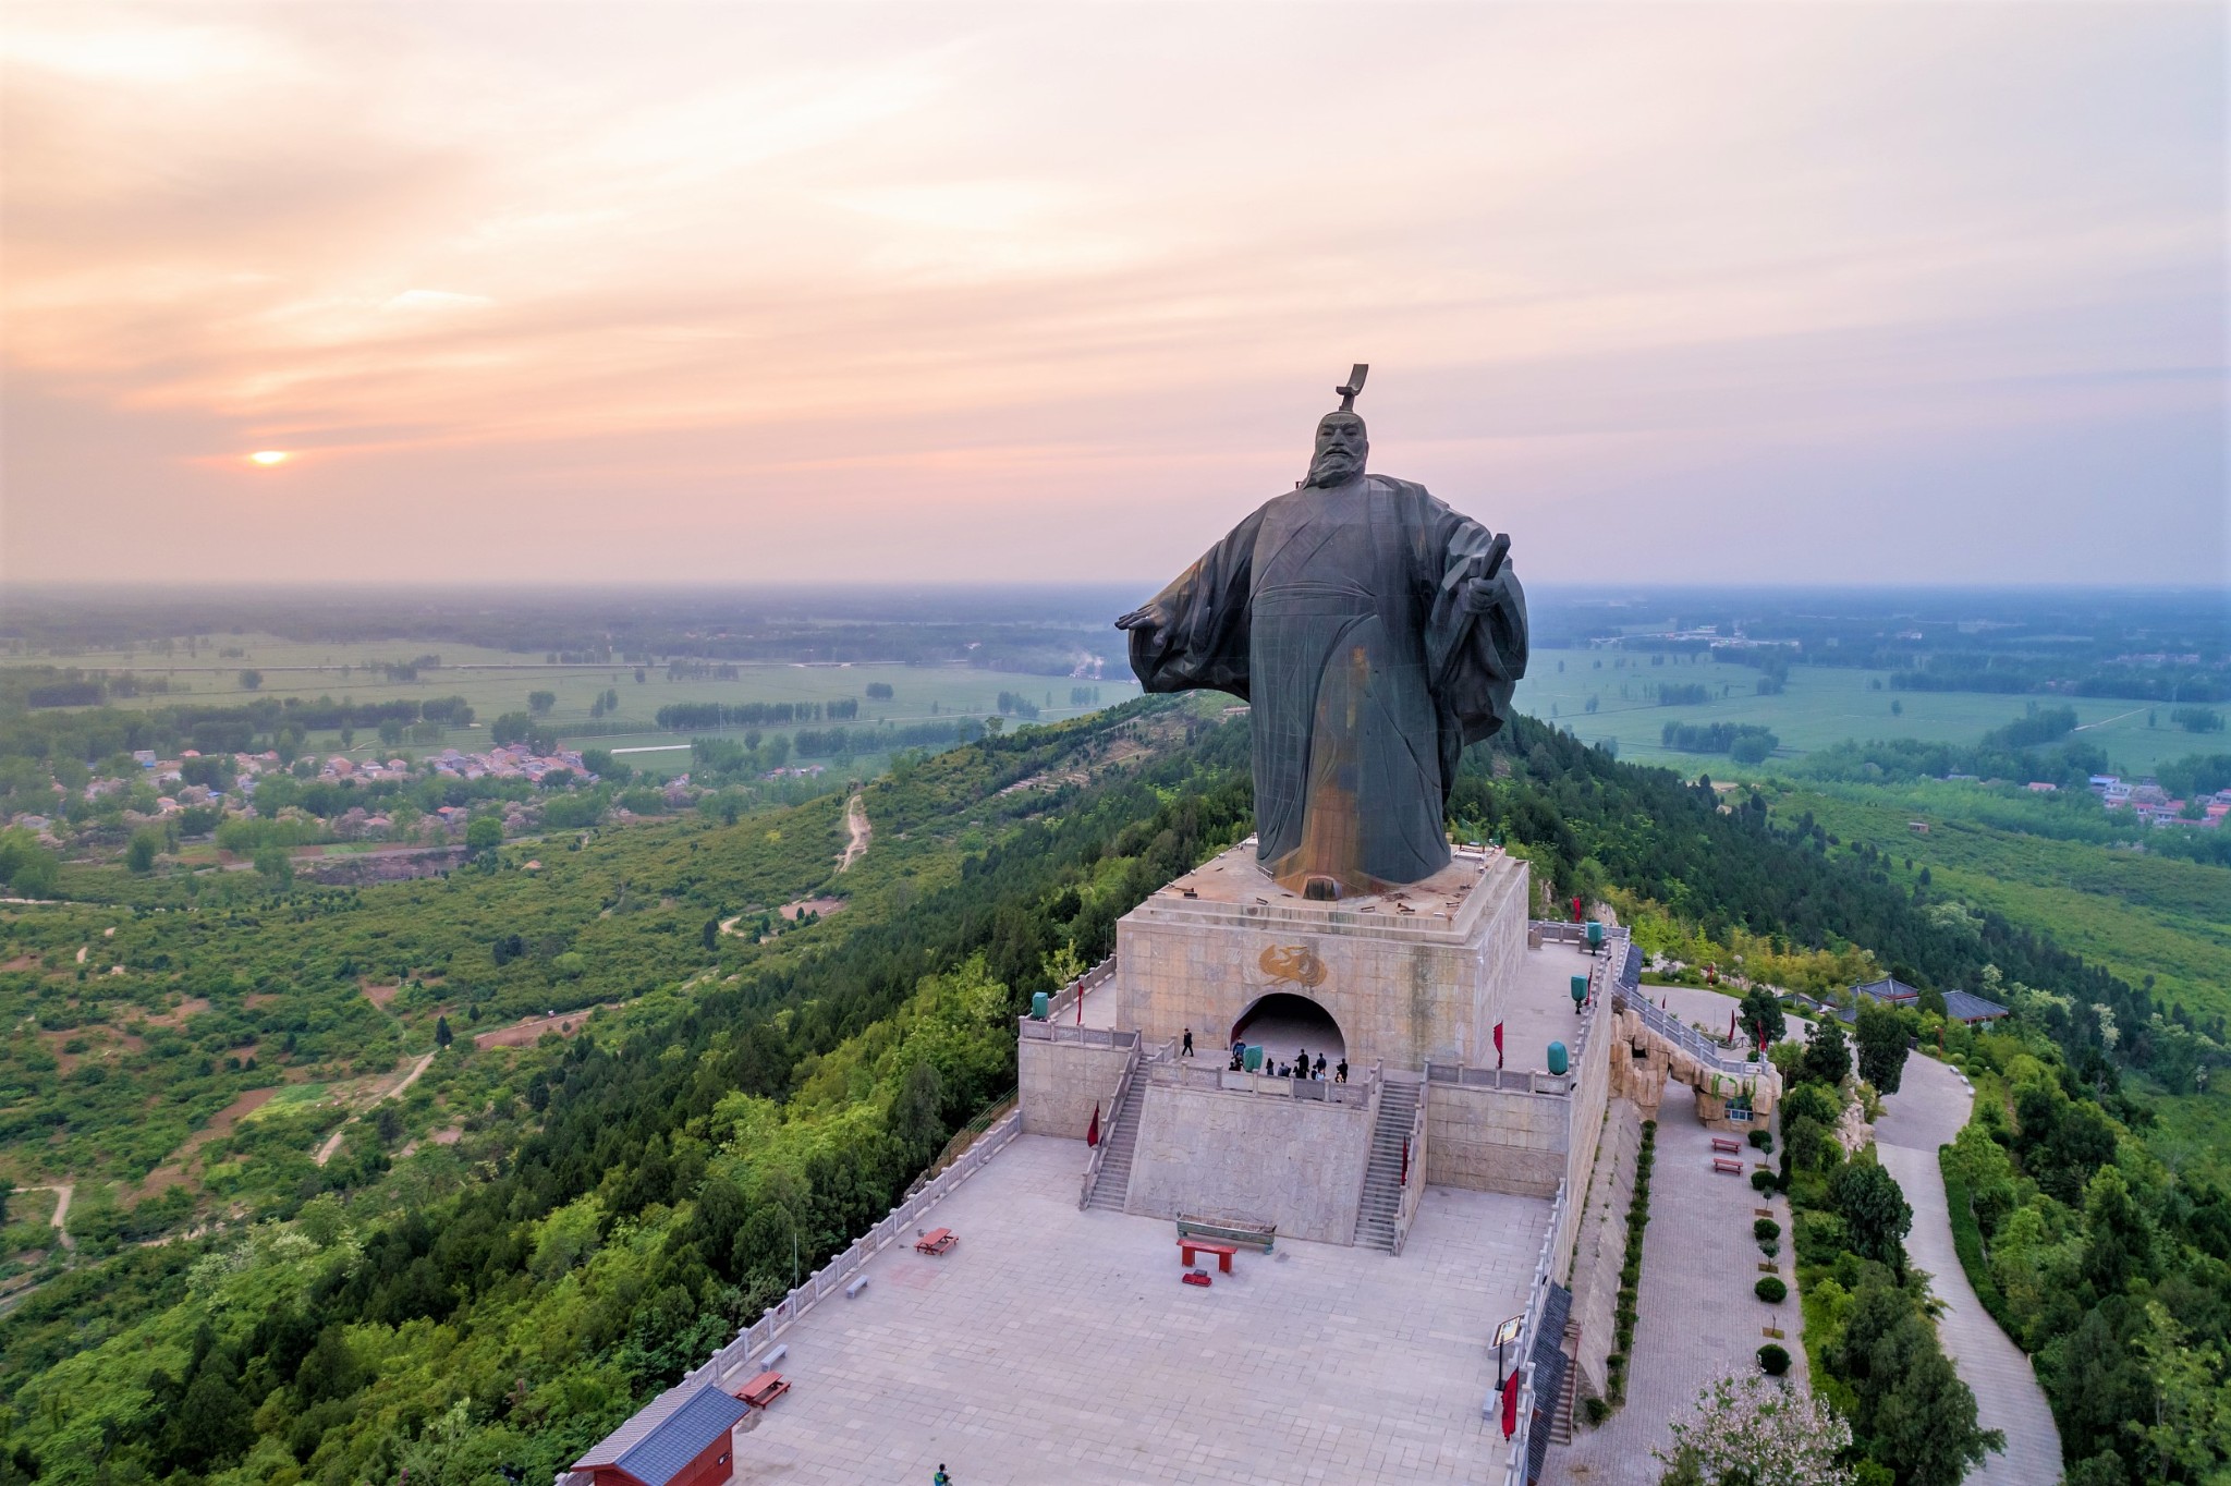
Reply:
[[2224, 13], [11, 0], [0, 580], [2224, 582]]

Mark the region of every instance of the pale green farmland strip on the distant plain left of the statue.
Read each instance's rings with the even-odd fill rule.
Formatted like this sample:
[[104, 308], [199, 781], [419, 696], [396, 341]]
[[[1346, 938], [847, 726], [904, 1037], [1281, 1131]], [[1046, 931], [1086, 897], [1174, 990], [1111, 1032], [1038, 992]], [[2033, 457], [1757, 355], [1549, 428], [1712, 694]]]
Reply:
[[[852, 665], [801, 665], [801, 663], [718, 663], [734, 665], [734, 681], [685, 678], [669, 681], [665, 665], [640, 667], [636, 681], [634, 665], [562, 665], [538, 656], [522, 656], [504, 649], [442, 643], [433, 647], [442, 665], [424, 667], [415, 681], [390, 681], [384, 665], [408, 663], [428, 647], [422, 643], [326, 643], [310, 645], [281, 640], [274, 636], [228, 636], [225, 649], [243, 654], [216, 658], [210, 647], [199, 656], [156, 656], [152, 652], [83, 652], [62, 658], [54, 656], [0, 656], [0, 665], [74, 665], [80, 669], [134, 672], [136, 676], [161, 676], [170, 681], [167, 694], [116, 698], [109, 705], [123, 710], [145, 710], [163, 705], [241, 705], [268, 698], [319, 698], [355, 703], [384, 701], [431, 701], [437, 696], [462, 696], [475, 710], [475, 723], [446, 727], [440, 747], [480, 750], [489, 741], [489, 723], [504, 712], [524, 712], [529, 692], [553, 692], [551, 721], [558, 739], [567, 745], [651, 750], [629, 756], [629, 763], [647, 772], [678, 772], [687, 765], [687, 736], [738, 736], [741, 727], [689, 730], [687, 734], [665, 732], [656, 723], [660, 707], [674, 703], [830, 703], [859, 698], [859, 718], [846, 727], [875, 723], [921, 723], [939, 716], [995, 716], [999, 692], [1015, 692], [1040, 707], [1040, 721], [1084, 716], [1098, 707], [1116, 705], [1138, 696], [1138, 683], [1122, 667], [1120, 654], [1104, 681], [1082, 681], [1069, 676], [1026, 676], [1015, 672], [991, 672], [964, 665], [917, 667], [899, 663], [852, 663]], [[1116, 652], [1116, 647], [1109, 647]], [[241, 687], [243, 669], [261, 672], [261, 685], [250, 692]], [[886, 683], [890, 698], [870, 701], [870, 681]], [[1098, 687], [1098, 703], [1073, 705], [1071, 687]], [[591, 707], [607, 689], [618, 692], [616, 712], [591, 718]], [[808, 727], [821, 723], [805, 723]], [[761, 727], [772, 736], [785, 727]], [[315, 752], [339, 752], [339, 732], [312, 732]], [[357, 754], [395, 752], [382, 750], [377, 741], [357, 736]], [[408, 745], [406, 752], [426, 752], [426, 745]], [[854, 754], [868, 761], [866, 750]], [[861, 768], [854, 763], [854, 770]]]

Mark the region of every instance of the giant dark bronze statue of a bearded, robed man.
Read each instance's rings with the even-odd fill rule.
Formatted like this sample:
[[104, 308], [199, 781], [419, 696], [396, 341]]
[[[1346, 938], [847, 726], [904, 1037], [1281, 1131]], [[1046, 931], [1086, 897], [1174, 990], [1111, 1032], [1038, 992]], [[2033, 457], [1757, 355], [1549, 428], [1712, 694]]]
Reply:
[[1510, 538], [1365, 473], [1365, 370], [1334, 388], [1310, 477], [1116, 620], [1149, 692], [1254, 705], [1256, 855], [1316, 899], [1448, 866], [1457, 754], [1504, 725], [1526, 674]]

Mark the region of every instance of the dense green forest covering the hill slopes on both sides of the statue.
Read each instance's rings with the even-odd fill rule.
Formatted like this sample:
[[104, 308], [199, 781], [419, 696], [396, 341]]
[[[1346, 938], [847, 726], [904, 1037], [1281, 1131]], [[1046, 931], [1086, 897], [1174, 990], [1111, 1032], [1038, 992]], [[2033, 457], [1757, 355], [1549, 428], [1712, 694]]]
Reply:
[[[908, 759], [863, 801], [877, 843], [841, 879], [841, 808], [821, 799], [542, 846], [535, 872], [513, 846], [440, 884], [272, 886], [257, 913], [134, 917], [147, 955], [192, 942], [172, 951], [174, 973], [203, 975], [203, 1000], [234, 1015], [330, 980], [344, 955], [417, 986], [422, 1017], [529, 1006], [558, 986], [571, 1004], [627, 1006], [571, 1040], [442, 1053], [464, 1116], [455, 1145], [404, 1158], [368, 1131], [348, 1160], [297, 1158], [277, 1167], [288, 1180], [241, 1187], [243, 1212], [216, 1234], [112, 1236], [51, 1278], [0, 1321], [0, 1470], [245, 1486], [562, 1464], [779, 1296], [792, 1245], [808, 1267], [843, 1247], [1011, 1089], [1011, 1017], [1028, 993], [1102, 955], [1116, 917], [1245, 834], [1247, 721], [1133, 703]], [[2010, 1169], [2075, 1198], [2057, 1241], [2077, 1252], [2146, 1234], [2144, 1263], [2082, 1274], [2026, 1337], [2070, 1455], [2102, 1486], [2220, 1468], [2218, 1444], [2211, 1457], [2148, 1432], [2169, 1406], [2220, 1408], [2231, 1207], [2124, 1129], [2148, 1113], [2124, 1073], [2157, 1055], [2142, 986], [2003, 917], [1945, 913], [1872, 848], [1776, 819], [1762, 792], [1622, 765], [1524, 718], [1468, 754], [1450, 814], [1530, 857], [1555, 897], [1617, 888], [1696, 935], [1867, 951], [1930, 988], [2010, 986], [2021, 1055], [2061, 1100], [2035, 1116], [2050, 1125], [2015, 1100]], [[718, 933], [725, 915], [810, 892], [839, 895], [843, 913], [765, 942]], [[9, 933], [45, 933], [29, 928], [38, 913], [89, 910], [16, 910]], [[542, 946], [542, 924], [576, 937]], [[42, 962], [76, 942], [49, 937]], [[67, 1000], [74, 982], [60, 984]], [[1999, 1064], [2017, 1089], [2039, 1082], [2030, 1064]], [[2059, 1140], [2064, 1120], [2082, 1138]], [[2021, 1165], [2026, 1131], [2059, 1151], [2044, 1178]], [[2117, 1180], [2117, 1200], [2090, 1200]], [[1858, 1294], [1865, 1274], [1849, 1278]], [[1883, 1337], [1903, 1334], [1905, 1312], [1870, 1305]], [[2173, 1308], [2198, 1372], [2162, 1361], [2148, 1305]], [[2053, 1350], [2057, 1337], [2082, 1350]], [[2111, 1417], [2095, 1419], [2090, 1377], [2113, 1381]]]

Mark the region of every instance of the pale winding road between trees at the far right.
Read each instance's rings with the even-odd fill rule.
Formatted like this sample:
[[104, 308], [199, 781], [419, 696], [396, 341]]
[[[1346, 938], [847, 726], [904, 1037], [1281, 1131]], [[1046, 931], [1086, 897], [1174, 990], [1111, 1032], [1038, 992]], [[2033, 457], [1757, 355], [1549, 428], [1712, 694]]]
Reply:
[[1974, 1096], [1954, 1069], [1914, 1053], [1905, 1060], [1899, 1091], [1883, 1100], [1874, 1147], [1883, 1169], [1899, 1178], [1914, 1207], [1905, 1252], [1916, 1267], [1930, 1272], [1937, 1296], [1945, 1303], [1945, 1314], [1937, 1321], [1945, 1352], [1974, 1388], [1983, 1428], [2006, 1430], [2006, 1455], [1988, 1457], [1968, 1479], [1981, 1486], [2041, 1486], [2061, 1479], [2061, 1432], [2030, 1359], [2006, 1339], [1959, 1267], [1952, 1218], [1945, 1214], [1943, 1167], [1937, 1165], [1937, 1147], [1959, 1133], [1972, 1102]]

